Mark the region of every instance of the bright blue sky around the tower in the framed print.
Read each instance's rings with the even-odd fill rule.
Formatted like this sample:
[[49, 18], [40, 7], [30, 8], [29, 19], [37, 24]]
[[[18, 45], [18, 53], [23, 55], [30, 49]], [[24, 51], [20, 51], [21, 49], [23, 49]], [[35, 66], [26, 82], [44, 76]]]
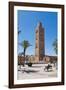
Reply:
[[[21, 30], [18, 40], [28, 40], [32, 45], [26, 50], [26, 54], [35, 55], [35, 30], [39, 22], [45, 30], [45, 55], [55, 55], [52, 43], [57, 38], [57, 12], [23, 11], [18, 10], [18, 27]], [[23, 52], [21, 46], [18, 53]]]

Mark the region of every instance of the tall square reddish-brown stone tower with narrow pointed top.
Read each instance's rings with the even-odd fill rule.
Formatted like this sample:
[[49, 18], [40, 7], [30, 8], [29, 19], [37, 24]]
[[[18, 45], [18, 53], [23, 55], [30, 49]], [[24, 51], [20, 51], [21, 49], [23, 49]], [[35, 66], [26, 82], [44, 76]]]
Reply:
[[42, 27], [42, 23], [39, 22], [36, 28], [36, 42], [35, 42], [35, 60], [39, 62], [43, 60], [45, 55], [44, 48], [44, 28]]

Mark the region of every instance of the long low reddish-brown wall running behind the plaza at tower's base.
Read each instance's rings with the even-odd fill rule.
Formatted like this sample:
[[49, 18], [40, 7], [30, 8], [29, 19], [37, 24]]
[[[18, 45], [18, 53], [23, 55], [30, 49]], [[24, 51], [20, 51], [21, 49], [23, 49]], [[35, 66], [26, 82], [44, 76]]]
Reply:
[[18, 64], [23, 64], [24, 62], [26, 63], [54, 63], [57, 62], [57, 56], [44, 56], [43, 60], [36, 60], [35, 56], [26, 56], [25, 61], [23, 56], [18, 56]]

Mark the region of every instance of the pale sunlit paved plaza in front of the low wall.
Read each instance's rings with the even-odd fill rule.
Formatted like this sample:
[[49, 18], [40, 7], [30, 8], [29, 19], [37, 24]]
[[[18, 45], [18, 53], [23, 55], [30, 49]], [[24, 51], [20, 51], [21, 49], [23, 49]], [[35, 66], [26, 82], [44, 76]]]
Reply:
[[41, 78], [50, 78], [57, 77], [57, 69], [52, 64], [52, 68], [44, 70], [47, 64], [33, 64], [32, 67], [25, 65], [24, 67], [18, 66], [18, 80], [21, 79], [41, 79]]

